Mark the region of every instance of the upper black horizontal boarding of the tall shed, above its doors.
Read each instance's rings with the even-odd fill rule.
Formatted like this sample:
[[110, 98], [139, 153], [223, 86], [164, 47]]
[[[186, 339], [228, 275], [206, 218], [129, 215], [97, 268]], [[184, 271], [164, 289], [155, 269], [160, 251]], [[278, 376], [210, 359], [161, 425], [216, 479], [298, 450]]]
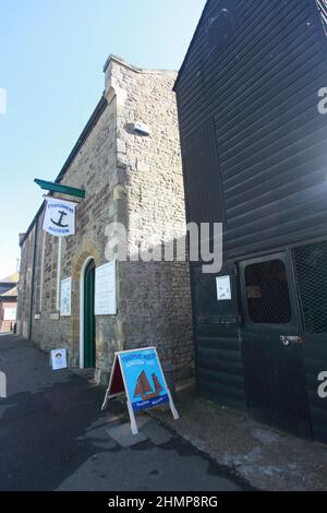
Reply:
[[[235, 34], [213, 52], [209, 20], [223, 8], [234, 13]], [[302, 240], [313, 227], [326, 234], [327, 117], [317, 110], [326, 46], [315, 1], [207, 3], [175, 91], [189, 220], [204, 219], [192, 205], [201, 193], [216, 205], [216, 219], [226, 219], [227, 255]], [[198, 164], [199, 190], [187, 148], [207, 123], [217, 145], [216, 183]]]

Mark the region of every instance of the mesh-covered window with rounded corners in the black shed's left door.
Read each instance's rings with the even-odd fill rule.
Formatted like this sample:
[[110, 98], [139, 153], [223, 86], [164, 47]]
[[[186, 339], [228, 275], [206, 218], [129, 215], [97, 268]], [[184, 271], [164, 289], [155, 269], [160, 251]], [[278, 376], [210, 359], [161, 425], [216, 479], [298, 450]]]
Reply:
[[284, 324], [290, 322], [291, 302], [284, 264], [270, 260], [245, 267], [247, 310], [252, 322]]

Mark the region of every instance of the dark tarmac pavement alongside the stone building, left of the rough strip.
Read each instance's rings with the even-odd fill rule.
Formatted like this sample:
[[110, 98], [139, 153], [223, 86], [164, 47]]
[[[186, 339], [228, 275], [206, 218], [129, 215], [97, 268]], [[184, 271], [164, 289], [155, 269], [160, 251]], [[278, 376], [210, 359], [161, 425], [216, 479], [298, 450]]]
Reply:
[[[0, 336], [0, 490], [241, 490], [249, 487], [170, 428], [125, 408], [100, 413], [104, 389], [15, 336]], [[167, 413], [166, 413], [167, 415]]]

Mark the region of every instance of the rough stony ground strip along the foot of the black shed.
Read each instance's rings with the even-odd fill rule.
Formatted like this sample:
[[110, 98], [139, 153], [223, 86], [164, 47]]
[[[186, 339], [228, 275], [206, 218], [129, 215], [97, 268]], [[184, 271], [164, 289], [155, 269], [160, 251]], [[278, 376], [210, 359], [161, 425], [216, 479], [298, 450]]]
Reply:
[[247, 416], [179, 394], [180, 420], [162, 409], [152, 416], [259, 490], [327, 490], [327, 445], [263, 426]]

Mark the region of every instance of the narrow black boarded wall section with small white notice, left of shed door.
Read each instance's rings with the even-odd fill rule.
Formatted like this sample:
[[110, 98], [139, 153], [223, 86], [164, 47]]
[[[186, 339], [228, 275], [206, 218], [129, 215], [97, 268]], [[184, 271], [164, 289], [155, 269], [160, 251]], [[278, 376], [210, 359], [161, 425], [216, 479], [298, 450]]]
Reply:
[[192, 300], [196, 338], [196, 381], [209, 398], [238, 409], [245, 407], [242, 354], [239, 341], [239, 306], [233, 264], [221, 273], [231, 278], [233, 301], [216, 300], [216, 276], [192, 267]]

